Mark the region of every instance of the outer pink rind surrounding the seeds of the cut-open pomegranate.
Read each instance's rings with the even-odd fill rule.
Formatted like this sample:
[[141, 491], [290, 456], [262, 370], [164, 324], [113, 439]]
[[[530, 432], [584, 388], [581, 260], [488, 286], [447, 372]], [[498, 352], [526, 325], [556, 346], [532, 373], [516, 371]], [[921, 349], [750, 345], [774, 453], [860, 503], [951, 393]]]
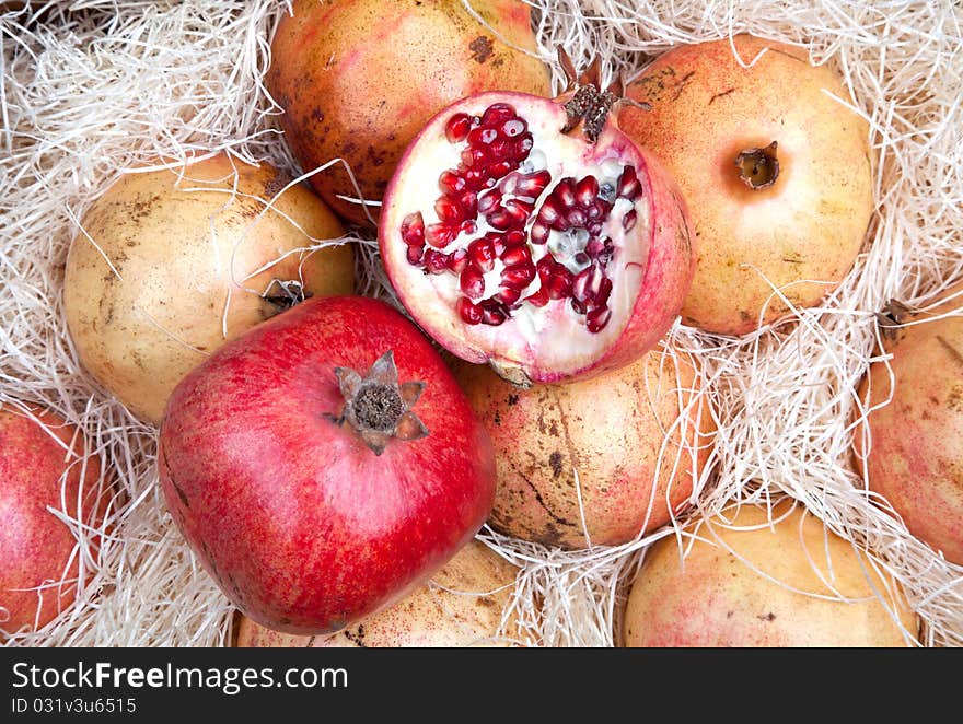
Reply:
[[[675, 180], [658, 157], [619, 130], [614, 116], [610, 117], [594, 144], [582, 144], [580, 160], [587, 164], [595, 163], [595, 150], [606, 149], [608, 155], [635, 166], [645, 189], [647, 207], [646, 213], [639, 213], [639, 218], [648, 219], [648, 234], [633, 252], [640, 256], [639, 262], [626, 265], [634, 269], [626, 272], [626, 277], [631, 277], [630, 285], [637, 288], [630, 292], [635, 296], [618, 323], [622, 327], [604, 349], [584, 351], [595, 345], [595, 340], [592, 332], [582, 328], [579, 336], [570, 340], [571, 349], [577, 350], [576, 354], [565, 364], [546, 362], [539, 359], [537, 346], [539, 337], [550, 332], [542, 330], [525, 337], [525, 332], [511, 331], [513, 320], [497, 328], [486, 329], [483, 325], [469, 327], [451, 308], [433, 297], [429, 300], [429, 295], [419, 287], [426, 275], [408, 264], [401, 234], [403, 219], [411, 207], [398, 199], [410, 194], [405, 187], [413, 183], [413, 178], [425, 187], [434, 186], [421, 180], [418, 173], [410, 174], [411, 166], [420, 163], [419, 152], [437, 141], [441, 142], [449, 118], [460, 113], [480, 115], [495, 104], [509, 104], [518, 108], [522, 117], [537, 115], [538, 122], [546, 128], [561, 129], [567, 122], [562, 103], [512, 92], [480, 93], [463, 98], [442, 109], [428, 122], [398, 163], [385, 192], [379, 224], [382, 260], [398, 299], [421, 328], [452, 354], [466, 362], [490, 363], [507, 379], [519, 384], [517, 381], [521, 378], [523, 382], [520, 386], [590, 378], [635, 362], [654, 348], [678, 318], [695, 275], [697, 248], [688, 208]], [[428, 194], [438, 195], [434, 190]], [[537, 209], [536, 206], [536, 212]], [[618, 291], [613, 291], [613, 297], [618, 294]], [[607, 334], [608, 329], [605, 331]], [[580, 341], [585, 345], [580, 346]]]

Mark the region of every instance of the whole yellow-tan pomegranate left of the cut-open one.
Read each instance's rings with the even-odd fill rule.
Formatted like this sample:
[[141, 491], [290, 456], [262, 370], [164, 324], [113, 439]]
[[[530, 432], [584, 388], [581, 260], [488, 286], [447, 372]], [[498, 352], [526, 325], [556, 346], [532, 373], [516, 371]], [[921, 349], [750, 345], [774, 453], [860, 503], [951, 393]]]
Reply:
[[137, 417], [160, 423], [188, 371], [297, 297], [352, 292], [350, 245], [305, 250], [340, 222], [305, 186], [278, 196], [289, 180], [221, 153], [121, 176], [84, 215], [67, 325], [84, 367]]

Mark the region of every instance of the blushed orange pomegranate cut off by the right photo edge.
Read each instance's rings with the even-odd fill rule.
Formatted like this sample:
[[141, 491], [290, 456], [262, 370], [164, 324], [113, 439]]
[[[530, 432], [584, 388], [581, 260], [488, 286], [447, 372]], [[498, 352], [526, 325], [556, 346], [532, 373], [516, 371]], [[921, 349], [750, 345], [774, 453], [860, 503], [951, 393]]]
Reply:
[[[963, 284], [956, 284], [944, 296], [961, 291]], [[870, 365], [859, 397], [884, 407], [867, 418], [869, 448], [859, 432], [854, 439], [854, 463], [870, 489], [913, 535], [958, 565], [963, 565], [963, 318], [926, 319], [961, 304], [958, 296], [909, 314], [902, 322], [917, 324], [884, 338], [893, 381], [883, 362]]]

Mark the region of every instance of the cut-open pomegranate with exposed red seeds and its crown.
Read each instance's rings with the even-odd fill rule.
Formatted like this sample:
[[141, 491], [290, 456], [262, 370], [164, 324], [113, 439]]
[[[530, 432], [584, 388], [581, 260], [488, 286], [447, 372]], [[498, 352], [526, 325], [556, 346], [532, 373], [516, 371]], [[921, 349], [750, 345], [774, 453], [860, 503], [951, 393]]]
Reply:
[[522, 386], [641, 357], [695, 270], [675, 183], [610, 115], [620, 83], [601, 91], [597, 78], [595, 65], [555, 100], [449, 106], [408, 147], [382, 207], [382, 258], [415, 320]]

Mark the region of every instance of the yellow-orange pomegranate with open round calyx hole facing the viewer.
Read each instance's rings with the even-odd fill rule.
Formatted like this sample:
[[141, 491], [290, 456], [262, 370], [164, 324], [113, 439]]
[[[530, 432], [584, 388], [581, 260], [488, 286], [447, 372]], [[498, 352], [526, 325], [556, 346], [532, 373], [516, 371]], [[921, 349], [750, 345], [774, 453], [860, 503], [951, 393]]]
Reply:
[[736, 35], [673, 48], [626, 90], [651, 109], [627, 108], [623, 128], [665, 162], [699, 237], [687, 324], [742, 335], [786, 314], [773, 285], [810, 307], [843, 281], [873, 211], [872, 162], [828, 67]]

